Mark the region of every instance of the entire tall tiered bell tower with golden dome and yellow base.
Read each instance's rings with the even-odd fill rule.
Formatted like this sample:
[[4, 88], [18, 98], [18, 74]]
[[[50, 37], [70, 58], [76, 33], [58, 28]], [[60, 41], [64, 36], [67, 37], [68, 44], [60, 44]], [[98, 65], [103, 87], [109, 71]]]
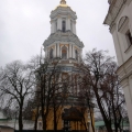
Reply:
[[[77, 68], [77, 64], [81, 62], [84, 44], [76, 32], [76, 12], [67, 6], [66, 0], [61, 0], [59, 6], [51, 12], [50, 18], [51, 34], [43, 43], [45, 58], [51, 64], [51, 67], [53, 62], [58, 59], [61, 79], [66, 78], [72, 82], [69, 87], [64, 86], [61, 89], [66, 95], [66, 98], [63, 103], [63, 110], [59, 112], [62, 116], [57, 129], [65, 131], [89, 129], [90, 125], [85, 127], [82, 124], [82, 116], [86, 124], [90, 124], [88, 108], [79, 99], [81, 88], [78, 82], [80, 72]], [[85, 112], [81, 113], [81, 110]], [[53, 122], [52, 119], [48, 120], [47, 130], [52, 129], [51, 122]]]

